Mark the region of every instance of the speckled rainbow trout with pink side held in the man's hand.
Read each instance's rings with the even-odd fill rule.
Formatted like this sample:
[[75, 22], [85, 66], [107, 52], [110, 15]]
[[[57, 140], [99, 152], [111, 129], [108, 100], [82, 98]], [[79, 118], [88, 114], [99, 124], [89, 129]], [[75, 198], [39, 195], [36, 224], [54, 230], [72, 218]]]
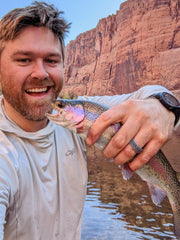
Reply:
[[[108, 107], [95, 102], [65, 99], [55, 101], [53, 108], [56, 113], [47, 114], [48, 119], [79, 134], [84, 139], [95, 120], [108, 110]], [[95, 146], [103, 150], [121, 126], [117, 123], [108, 127]], [[124, 179], [132, 176], [128, 164], [123, 165], [121, 171]], [[175, 235], [180, 239], [180, 182], [163, 152], [160, 150], [135, 172], [147, 182], [152, 201], [156, 205], [160, 205], [165, 196], [168, 197], [174, 216]]]

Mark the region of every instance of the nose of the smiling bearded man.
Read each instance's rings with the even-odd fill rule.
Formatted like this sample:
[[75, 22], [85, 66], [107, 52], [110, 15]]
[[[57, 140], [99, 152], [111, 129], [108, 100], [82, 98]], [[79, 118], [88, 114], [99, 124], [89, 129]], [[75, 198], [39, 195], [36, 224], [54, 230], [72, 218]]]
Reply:
[[38, 60], [34, 63], [31, 77], [36, 79], [45, 80], [49, 76], [45, 64], [42, 60]]

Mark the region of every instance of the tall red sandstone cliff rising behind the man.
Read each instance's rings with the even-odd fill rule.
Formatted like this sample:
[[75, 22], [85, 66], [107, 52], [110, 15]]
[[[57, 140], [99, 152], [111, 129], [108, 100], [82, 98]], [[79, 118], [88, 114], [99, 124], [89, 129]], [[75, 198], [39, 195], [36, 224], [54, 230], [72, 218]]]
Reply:
[[64, 91], [132, 92], [147, 84], [180, 89], [180, 1], [127, 0], [66, 47]]

